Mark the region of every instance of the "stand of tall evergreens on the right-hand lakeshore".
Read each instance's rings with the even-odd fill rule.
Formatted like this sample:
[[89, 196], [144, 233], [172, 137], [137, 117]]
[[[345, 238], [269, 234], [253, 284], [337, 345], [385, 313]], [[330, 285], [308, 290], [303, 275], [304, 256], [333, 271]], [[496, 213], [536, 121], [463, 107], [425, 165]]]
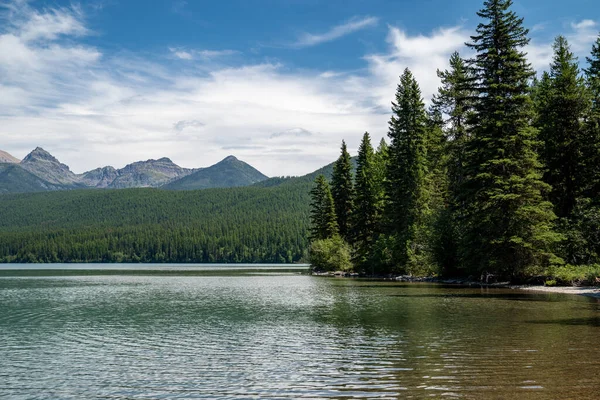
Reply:
[[389, 145], [345, 143], [311, 191], [316, 269], [476, 279], [600, 276], [600, 37], [580, 70], [565, 37], [536, 75], [511, 0], [488, 0], [427, 108], [400, 77]]

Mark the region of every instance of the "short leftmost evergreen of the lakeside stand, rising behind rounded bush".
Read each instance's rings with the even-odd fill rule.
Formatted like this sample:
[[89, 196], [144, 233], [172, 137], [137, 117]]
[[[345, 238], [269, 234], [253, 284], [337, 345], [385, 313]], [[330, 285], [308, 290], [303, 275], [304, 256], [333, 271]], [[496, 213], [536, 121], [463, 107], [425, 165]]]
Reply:
[[323, 175], [315, 179], [315, 187], [310, 191], [310, 197], [310, 240], [324, 240], [338, 235], [333, 196]]

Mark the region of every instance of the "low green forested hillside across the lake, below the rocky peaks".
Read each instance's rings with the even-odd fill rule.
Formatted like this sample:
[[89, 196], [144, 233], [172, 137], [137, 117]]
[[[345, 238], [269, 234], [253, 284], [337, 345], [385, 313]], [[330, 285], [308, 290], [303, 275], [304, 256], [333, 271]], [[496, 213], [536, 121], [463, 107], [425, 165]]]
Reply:
[[294, 262], [310, 185], [3, 195], [0, 262]]

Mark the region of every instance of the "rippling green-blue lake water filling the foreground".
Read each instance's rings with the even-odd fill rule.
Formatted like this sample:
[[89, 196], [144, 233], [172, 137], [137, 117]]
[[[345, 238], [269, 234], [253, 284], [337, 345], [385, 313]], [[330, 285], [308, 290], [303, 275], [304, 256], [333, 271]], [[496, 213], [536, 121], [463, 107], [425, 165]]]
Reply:
[[599, 398], [597, 299], [268, 269], [14, 275], [0, 398]]

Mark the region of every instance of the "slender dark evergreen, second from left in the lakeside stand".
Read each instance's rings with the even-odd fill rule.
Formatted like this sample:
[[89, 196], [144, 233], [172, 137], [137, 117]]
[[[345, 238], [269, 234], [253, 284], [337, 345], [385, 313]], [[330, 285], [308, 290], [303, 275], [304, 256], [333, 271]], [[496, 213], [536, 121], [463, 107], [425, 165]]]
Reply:
[[352, 185], [352, 161], [350, 159], [350, 154], [348, 154], [346, 142], [343, 140], [341, 150], [340, 157], [333, 165], [331, 194], [333, 195], [333, 201], [335, 203], [335, 214], [337, 216], [340, 235], [345, 240], [348, 240], [354, 188]]

